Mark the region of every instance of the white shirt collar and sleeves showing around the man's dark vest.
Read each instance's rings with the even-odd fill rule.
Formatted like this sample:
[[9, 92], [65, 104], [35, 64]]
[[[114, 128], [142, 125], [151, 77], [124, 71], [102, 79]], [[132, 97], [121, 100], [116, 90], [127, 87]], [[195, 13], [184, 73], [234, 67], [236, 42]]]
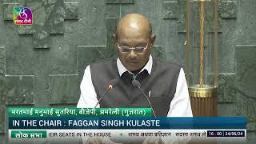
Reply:
[[[140, 72], [143, 70], [147, 70], [148, 73], [151, 73], [153, 65], [153, 58], [150, 55], [149, 61], [146, 63], [146, 65], [142, 68]], [[125, 66], [122, 65], [122, 62], [120, 59], [117, 59], [117, 66], [118, 66], [118, 72], [121, 76], [123, 73], [129, 70], [126, 69]], [[132, 73], [131, 73], [132, 74]], [[82, 78], [82, 82], [80, 85], [81, 95], [78, 101], [78, 108], [82, 107], [94, 107], [97, 102], [97, 94], [94, 89], [93, 82], [91, 80], [90, 75], [90, 66], [86, 67], [85, 73]], [[100, 107], [99, 104], [97, 107]], [[192, 117], [192, 110], [190, 106], [190, 97], [188, 88], [186, 85], [186, 77], [184, 74], [184, 70], [181, 68], [179, 75], [178, 75], [178, 82], [176, 86], [176, 92], [174, 94], [174, 98], [170, 102], [170, 110], [167, 114], [167, 117]]]

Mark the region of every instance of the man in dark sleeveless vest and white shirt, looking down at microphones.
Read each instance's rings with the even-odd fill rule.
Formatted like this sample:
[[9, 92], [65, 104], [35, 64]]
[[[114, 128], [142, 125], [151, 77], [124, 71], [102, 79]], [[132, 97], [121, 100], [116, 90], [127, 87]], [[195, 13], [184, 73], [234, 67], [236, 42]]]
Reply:
[[[78, 107], [150, 107], [151, 103], [156, 116], [192, 117], [182, 66], [151, 56], [156, 36], [148, 19], [141, 14], [125, 15], [113, 38], [118, 59], [86, 67]], [[133, 86], [134, 80], [147, 98]], [[114, 89], [99, 102], [110, 82], [115, 82]]]

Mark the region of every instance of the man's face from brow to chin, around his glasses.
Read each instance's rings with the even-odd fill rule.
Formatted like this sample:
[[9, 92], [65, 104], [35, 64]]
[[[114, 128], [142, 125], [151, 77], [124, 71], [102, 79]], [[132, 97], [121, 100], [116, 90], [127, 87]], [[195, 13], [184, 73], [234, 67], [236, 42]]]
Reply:
[[[154, 44], [155, 36], [150, 36], [148, 33], [119, 33], [118, 38], [115, 41], [115, 49], [118, 54], [118, 58], [122, 62], [122, 65], [129, 71], [140, 70], [146, 65], [146, 62], [150, 58], [151, 49]], [[130, 50], [129, 52], [122, 52], [118, 46], [131, 46], [135, 47], [146, 47], [143, 52], [136, 52]]]

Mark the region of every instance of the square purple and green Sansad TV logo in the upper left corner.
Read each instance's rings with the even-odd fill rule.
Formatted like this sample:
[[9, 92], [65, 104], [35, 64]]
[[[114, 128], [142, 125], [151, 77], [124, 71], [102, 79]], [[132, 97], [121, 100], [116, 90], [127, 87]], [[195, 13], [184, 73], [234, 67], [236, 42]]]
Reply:
[[28, 7], [14, 7], [15, 25], [32, 25], [32, 11]]

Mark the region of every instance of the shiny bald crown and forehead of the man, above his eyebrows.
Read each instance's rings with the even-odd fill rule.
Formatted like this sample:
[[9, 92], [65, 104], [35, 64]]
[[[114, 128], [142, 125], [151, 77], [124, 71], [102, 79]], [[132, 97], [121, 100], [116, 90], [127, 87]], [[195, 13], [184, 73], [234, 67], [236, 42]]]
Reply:
[[146, 34], [150, 37], [152, 27], [150, 22], [142, 14], [126, 14], [119, 19], [116, 28], [115, 36], [118, 38], [120, 34]]

